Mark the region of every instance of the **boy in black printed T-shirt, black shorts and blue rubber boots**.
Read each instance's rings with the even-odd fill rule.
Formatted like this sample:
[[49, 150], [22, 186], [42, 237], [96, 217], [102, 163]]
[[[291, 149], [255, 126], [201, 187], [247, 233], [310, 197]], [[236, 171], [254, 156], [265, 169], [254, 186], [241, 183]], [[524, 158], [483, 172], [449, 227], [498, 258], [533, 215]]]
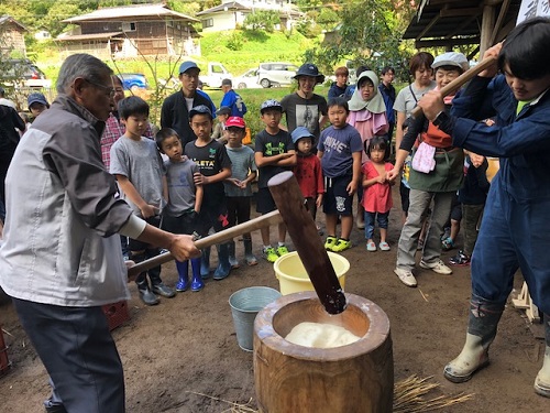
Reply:
[[[197, 140], [185, 145], [184, 153], [194, 161], [198, 173], [194, 174], [196, 185], [202, 185], [202, 207], [199, 215], [198, 232], [205, 237], [210, 228], [216, 232], [229, 227], [228, 207], [223, 181], [231, 176], [231, 160], [226, 146], [212, 140], [212, 112], [205, 105], [194, 107], [189, 111], [189, 127], [197, 135]], [[229, 243], [218, 246], [218, 268], [213, 273], [215, 280], [223, 280], [229, 275]], [[202, 251], [200, 273], [202, 278], [210, 274], [210, 249]]]

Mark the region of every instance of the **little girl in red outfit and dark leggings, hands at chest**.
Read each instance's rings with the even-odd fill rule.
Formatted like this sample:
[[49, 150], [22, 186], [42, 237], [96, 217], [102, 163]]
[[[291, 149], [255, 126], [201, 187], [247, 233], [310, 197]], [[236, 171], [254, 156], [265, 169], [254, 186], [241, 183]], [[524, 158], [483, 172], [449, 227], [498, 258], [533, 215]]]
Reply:
[[[366, 146], [366, 143], [369, 145]], [[386, 242], [387, 224], [389, 209], [393, 206], [392, 185], [387, 178], [387, 172], [392, 171], [394, 165], [387, 162], [389, 157], [389, 144], [383, 137], [374, 137], [365, 142], [365, 152], [370, 161], [362, 167], [363, 173], [363, 200], [365, 209], [365, 238], [366, 250], [376, 251], [374, 243], [374, 219], [378, 221], [380, 227], [380, 249], [389, 251]]]

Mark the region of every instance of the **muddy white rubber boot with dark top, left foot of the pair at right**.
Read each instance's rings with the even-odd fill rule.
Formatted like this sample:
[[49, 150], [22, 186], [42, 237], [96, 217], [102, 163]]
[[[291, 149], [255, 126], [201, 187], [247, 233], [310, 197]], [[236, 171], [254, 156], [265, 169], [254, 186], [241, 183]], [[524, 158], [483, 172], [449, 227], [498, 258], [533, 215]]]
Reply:
[[449, 362], [443, 374], [453, 383], [462, 383], [488, 365], [488, 347], [496, 336], [504, 303], [472, 295], [468, 320], [466, 343], [459, 357]]

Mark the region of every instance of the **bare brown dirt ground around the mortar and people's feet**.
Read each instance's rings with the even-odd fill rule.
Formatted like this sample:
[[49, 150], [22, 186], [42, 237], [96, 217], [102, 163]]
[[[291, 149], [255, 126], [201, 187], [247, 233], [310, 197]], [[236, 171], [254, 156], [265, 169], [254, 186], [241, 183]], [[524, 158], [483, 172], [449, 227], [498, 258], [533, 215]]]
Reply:
[[[397, 194], [394, 199], [399, 204]], [[322, 218], [318, 221], [322, 226]], [[438, 275], [418, 269], [418, 287], [405, 286], [393, 273], [399, 231], [400, 214], [394, 207], [392, 251], [366, 252], [363, 231], [354, 229], [354, 247], [343, 252], [351, 263], [345, 291], [372, 300], [389, 317], [396, 381], [410, 374], [433, 377], [441, 385], [432, 396], [474, 393], [472, 401], [444, 412], [550, 412], [550, 400], [532, 390], [542, 365], [543, 340], [535, 337], [524, 313], [512, 305], [492, 346], [491, 366], [468, 383], [452, 384], [443, 378], [443, 366], [460, 352], [464, 340], [470, 272], [457, 268], [452, 275]], [[254, 241], [260, 253], [258, 233]], [[241, 243], [238, 253], [242, 257]], [[174, 264], [166, 264], [164, 281], [174, 285], [176, 278]], [[272, 264], [260, 260], [256, 267], [242, 265], [223, 281], [208, 280], [201, 292], [162, 298], [153, 307], [141, 303], [131, 284], [131, 318], [113, 330], [124, 366], [128, 412], [223, 412], [231, 407], [228, 402], [250, 402], [255, 407], [253, 355], [239, 348], [228, 304], [233, 292], [252, 285], [278, 289]], [[520, 285], [518, 278], [516, 291]], [[0, 324], [8, 333], [13, 365], [0, 378], [0, 411], [42, 412], [47, 376], [9, 303], [0, 306]]]

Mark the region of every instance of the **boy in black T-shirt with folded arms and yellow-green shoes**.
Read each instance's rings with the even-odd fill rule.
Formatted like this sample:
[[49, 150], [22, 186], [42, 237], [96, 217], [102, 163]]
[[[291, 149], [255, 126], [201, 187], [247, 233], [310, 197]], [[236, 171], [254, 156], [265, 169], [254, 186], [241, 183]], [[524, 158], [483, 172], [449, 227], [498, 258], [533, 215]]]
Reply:
[[[260, 112], [265, 129], [256, 134], [254, 148], [254, 159], [258, 172], [256, 211], [267, 214], [277, 209], [267, 187], [267, 181], [279, 172], [292, 170], [297, 160], [290, 134], [279, 128], [283, 116], [280, 104], [273, 99], [266, 100], [260, 107]], [[270, 227], [264, 227], [260, 231], [263, 242], [262, 252], [268, 262], [275, 262], [277, 258], [288, 253], [285, 246], [286, 226], [284, 222], [278, 225], [277, 249], [271, 246]]]

